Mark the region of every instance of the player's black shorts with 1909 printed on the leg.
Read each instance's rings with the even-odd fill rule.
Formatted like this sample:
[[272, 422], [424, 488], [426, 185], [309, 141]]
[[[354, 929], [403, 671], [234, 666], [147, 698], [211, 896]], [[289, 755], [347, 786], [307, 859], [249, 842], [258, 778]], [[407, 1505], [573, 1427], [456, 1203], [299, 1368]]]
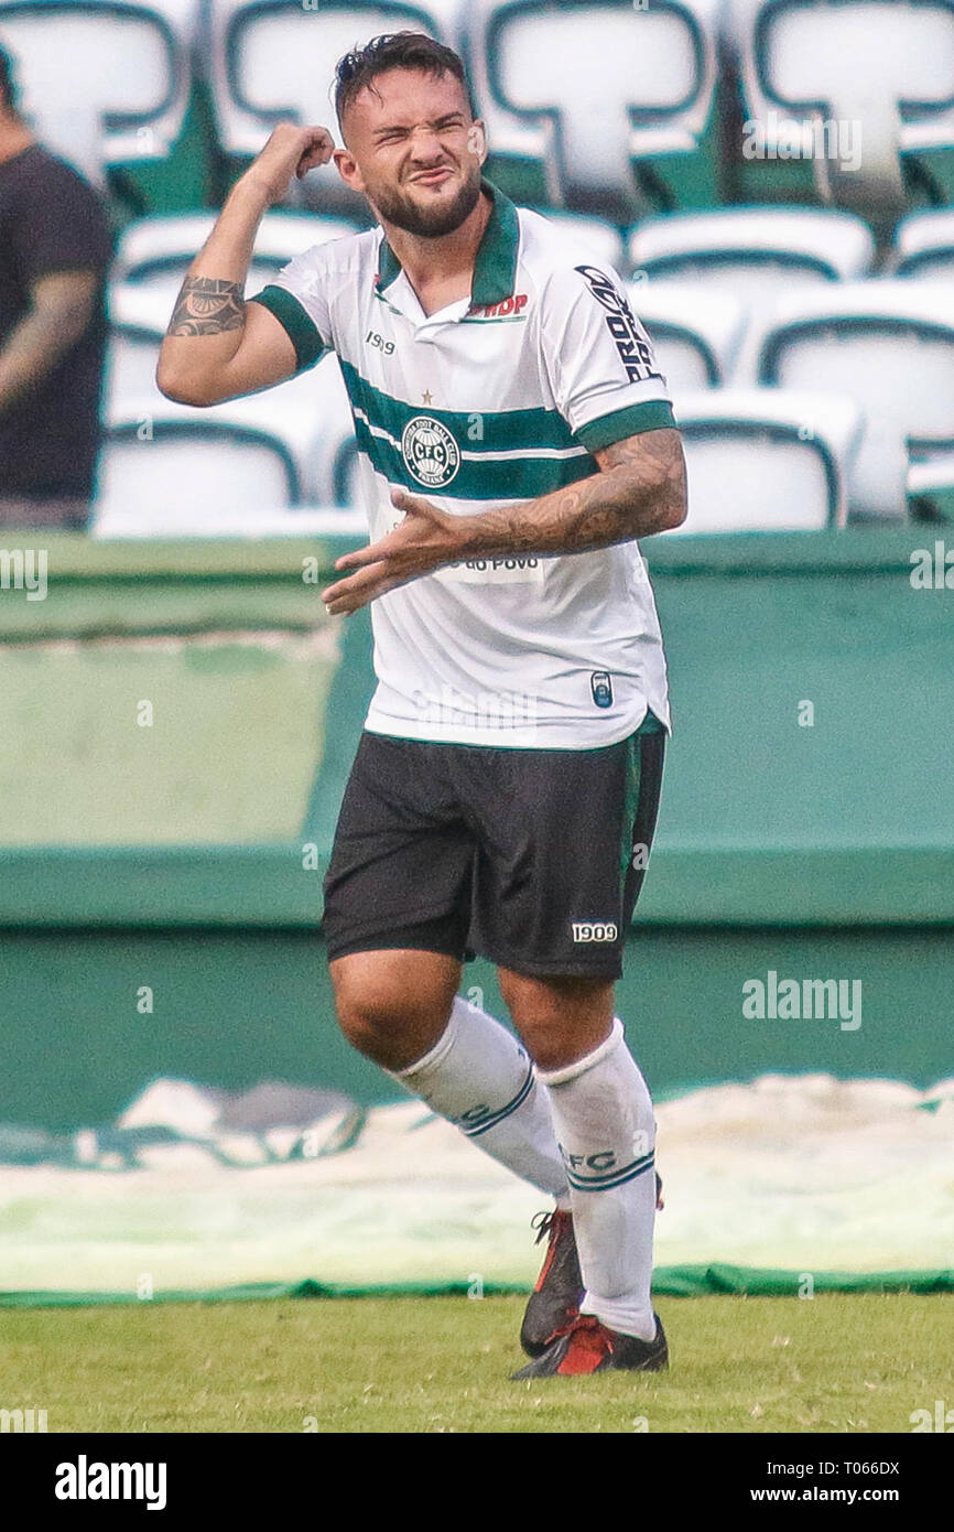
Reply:
[[329, 961], [403, 947], [619, 979], [665, 741], [652, 715], [594, 751], [364, 732], [325, 878]]

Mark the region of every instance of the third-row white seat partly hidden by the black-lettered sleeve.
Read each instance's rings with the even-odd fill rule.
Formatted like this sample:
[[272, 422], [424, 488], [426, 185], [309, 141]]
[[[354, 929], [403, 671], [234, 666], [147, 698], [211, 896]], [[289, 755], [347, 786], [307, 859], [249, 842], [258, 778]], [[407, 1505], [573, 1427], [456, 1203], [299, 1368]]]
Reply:
[[655, 348], [671, 389], [735, 381], [749, 311], [730, 293], [689, 282], [631, 282], [628, 297]]

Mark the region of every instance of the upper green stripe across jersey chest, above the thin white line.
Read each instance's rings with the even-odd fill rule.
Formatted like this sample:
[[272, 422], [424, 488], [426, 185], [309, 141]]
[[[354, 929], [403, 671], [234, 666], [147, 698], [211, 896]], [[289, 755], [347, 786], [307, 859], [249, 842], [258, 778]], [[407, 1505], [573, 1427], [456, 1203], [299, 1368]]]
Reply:
[[[461, 411], [407, 404], [363, 378], [351, 362], [338, 360], [351, 403], [368, 415], [372, 426], [380, 426], [398, 441], [415, 415], [430, 415], [446, 426], [462, 452], [565, 450], [580, 446], [557, 409]], [[593, 473], [593, 466], [588, 472]]]

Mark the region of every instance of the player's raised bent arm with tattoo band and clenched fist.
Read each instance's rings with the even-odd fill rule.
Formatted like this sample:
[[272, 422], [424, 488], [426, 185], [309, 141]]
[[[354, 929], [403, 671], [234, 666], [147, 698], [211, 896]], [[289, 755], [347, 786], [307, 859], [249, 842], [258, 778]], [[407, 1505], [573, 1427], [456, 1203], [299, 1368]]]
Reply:
[[276, 127], [233, 187], [216, 227], [188, 268], [159, 351], [156, 383], [181, 404], [217, 404], [280, 383], [296, 371], [283, 325], [260, 303], [245, 306], [245, 277], [262, 214], [332, 153], [323, 127]]

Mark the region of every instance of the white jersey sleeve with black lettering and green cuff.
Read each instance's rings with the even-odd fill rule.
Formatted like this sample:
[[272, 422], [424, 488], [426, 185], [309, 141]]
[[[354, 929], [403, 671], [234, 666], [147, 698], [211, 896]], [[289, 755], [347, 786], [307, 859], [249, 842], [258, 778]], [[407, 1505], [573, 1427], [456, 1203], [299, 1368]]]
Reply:
[[590, 452], [675, 426], [652, 342], [613, 267], [583, 259], [551, 273], [541, 345], [556, 408]]

